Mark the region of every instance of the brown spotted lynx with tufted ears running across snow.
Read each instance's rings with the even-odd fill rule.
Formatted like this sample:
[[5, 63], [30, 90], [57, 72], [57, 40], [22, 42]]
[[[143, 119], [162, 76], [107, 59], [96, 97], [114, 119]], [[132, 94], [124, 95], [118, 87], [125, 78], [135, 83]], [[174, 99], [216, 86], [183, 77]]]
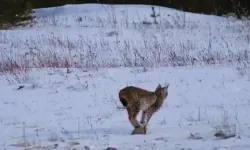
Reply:
[[[165, 87], [159, 84], [155, 91], [147, 91], [134, 86], [128, 86], [120, 90], [120, 102], [127, 109], [128, 119], [135, 129], [143, 127], [146, 130], [152, 115], [161, 108], [167, 98], [168, 87], [169, 84]], [[142, 116], [139, 123], [136, 117], [140, 111], [142, 111]]]

